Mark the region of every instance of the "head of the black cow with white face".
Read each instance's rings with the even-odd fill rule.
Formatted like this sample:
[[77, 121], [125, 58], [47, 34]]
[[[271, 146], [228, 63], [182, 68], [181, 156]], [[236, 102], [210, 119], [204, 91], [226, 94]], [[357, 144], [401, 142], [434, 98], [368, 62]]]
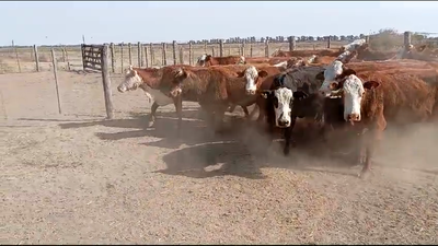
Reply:
[[[275, 78], [275, 80], [285, 80], [285, 75]], [[275, 114], [275, 125], [279, 128], [290, 127], [292, 122], [292, 106], [295, 99], [303, 99], [308, 96], [303, 91], [292, 92], [292, 90], [274, 82], [274, 84], [279, 84], [274, 90], [266, 90], [261, 93], [261, 95], [267, 99], [267, 105], [274, 107]]]

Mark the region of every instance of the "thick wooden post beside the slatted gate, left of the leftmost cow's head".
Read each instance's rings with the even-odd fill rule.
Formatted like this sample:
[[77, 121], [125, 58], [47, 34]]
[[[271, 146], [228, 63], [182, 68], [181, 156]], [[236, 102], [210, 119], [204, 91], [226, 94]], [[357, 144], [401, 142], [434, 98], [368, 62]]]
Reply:
[[103, 82], [103, 92], [105, 96], [105, 108], [107, 119], [114, 118], [114, 107], [112, 101], [112, 92], [111, 92], [111, 79], [110, 79], [110, 57], [108, 57], [108, 45], [104, 45], [101, 54], [101, 66], [102, 66], [102, 82]]

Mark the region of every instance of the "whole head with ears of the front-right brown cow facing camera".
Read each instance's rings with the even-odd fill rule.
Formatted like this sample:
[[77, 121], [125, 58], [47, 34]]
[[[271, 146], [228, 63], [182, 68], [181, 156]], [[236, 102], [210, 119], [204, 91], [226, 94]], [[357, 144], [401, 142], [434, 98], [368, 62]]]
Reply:
[[331, 83], [330, 90], [332, 94], [341, 95], [344, 101], [344, 119], [350, 121], [361, 120], [360, 109], [362, 97], [366, 96], [367, 90], [376, 89], [380, 85], [377, 81], [362, 81], [356, 74], [345, 77], [341, 82]]

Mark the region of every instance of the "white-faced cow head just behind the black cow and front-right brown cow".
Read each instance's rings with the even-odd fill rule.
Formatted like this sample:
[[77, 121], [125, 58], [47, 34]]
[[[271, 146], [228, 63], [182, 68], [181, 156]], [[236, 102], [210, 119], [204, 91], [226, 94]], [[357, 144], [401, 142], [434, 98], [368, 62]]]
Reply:
[[346, 68], [342, 61], [334, 60], [325, 68], [324, 72], [316, 74], [315, 79], [324, 80], [319, 91], [322, 95], [326, 97], [332, 96], [332, 90], [330, 89], [331, 84], [334, 82], [337, 83], [338, 81], [350, 74], [356, 74], [356, 72], [351, 69]]

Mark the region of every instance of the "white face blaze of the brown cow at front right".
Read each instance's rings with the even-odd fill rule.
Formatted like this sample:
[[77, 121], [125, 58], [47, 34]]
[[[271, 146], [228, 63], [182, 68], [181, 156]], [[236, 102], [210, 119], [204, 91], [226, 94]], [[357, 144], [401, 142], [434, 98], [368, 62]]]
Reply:
[[348, 75], [343, 84], [344, 119], [360, 121], [360, 103], [365, 93], [362, 81], [356, 75]]

